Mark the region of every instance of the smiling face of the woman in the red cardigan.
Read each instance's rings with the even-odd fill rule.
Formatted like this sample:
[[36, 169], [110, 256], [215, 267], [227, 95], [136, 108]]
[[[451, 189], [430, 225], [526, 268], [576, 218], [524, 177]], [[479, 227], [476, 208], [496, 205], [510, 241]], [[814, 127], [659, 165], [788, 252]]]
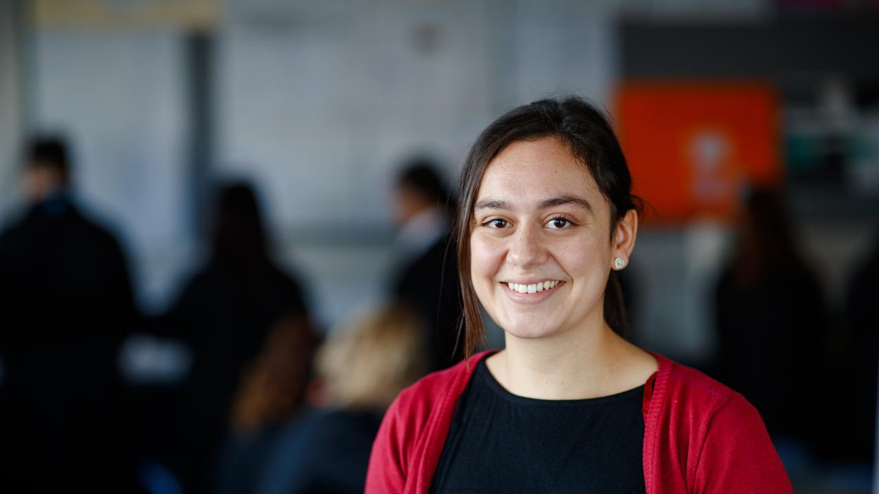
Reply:
[[[513, 142], [476, 196], [470, 277], [483, 307], [517, 338], [603, 324], [614, 258], [631, 247], [610, 236], [610, 206], [585, 166], [556, 138]], [[635, 222], [634, 212], [626, 222]], [[625, 227], [622, 229], [625, 230]], [[634, 229], [631, 231], [634, 245]]]

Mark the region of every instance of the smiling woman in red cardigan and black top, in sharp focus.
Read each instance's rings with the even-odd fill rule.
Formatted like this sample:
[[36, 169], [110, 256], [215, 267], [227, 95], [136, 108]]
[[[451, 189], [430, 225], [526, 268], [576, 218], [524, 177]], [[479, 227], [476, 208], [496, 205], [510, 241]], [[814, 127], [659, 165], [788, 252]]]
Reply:
[[741, 395], [616, 332], [630, 190], [613, 130], [583, 100], [521, 106], [483, 131], [456, 224], [465, 350], [483, 338], [477, 299], [505, 350], [397, 397], [368, 493], [792, 492]]

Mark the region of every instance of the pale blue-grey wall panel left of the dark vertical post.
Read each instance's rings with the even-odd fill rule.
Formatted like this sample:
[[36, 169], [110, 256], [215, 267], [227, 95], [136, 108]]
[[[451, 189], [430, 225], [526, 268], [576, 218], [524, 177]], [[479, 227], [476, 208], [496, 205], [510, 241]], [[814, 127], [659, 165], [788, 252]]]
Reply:
[[33, 129], [71, 144], [74, 190], [127, 249], [149, 309], [191, 250], [185, 198], [185, 79], [171, 30], [33, 33]]

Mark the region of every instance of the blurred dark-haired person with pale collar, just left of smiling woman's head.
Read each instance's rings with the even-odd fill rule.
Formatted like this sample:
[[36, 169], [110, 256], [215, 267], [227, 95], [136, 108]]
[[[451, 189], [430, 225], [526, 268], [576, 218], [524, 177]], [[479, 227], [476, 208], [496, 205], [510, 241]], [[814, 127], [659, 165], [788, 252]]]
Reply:
[[394, 198], [401, 261], [393, 294], [408, 301], [427, 324], [430, 370], [446, 368], [462, 355], [458, 341], [461, 290], [448, 229], [454, 204], [436, 165], [425, 158], [403, 167]]

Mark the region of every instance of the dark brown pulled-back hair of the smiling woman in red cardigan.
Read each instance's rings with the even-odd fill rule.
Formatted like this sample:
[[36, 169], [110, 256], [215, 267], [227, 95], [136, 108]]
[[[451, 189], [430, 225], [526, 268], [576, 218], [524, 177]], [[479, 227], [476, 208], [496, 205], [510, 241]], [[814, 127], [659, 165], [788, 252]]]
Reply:
[[[458, 190], [459, 214], [455, 222], [458, 248], [458, 277], [461, 281], [463, 317], [466, 331], [464, 353], [469, 356], [485, 339], [482, 316], [470, 280], [470, 229], [476, 195], [483, 175], [495, 156], [512, 142], [536, 141], [556, 137], [570, 148], [571, 155], [583, 163], [610, 205], [611, 239], [617, 223], [631, 209], [640, 209], [641, 200], [631, 193], [632, 178], [626, 157], [607, 117], [581, 98], [541, 99], [506, 113], [479, 135], [464, 163]], [[626, 312], [620, 282], [612, 271], [604, 299], [607, 324], [617, 332], [626, 331]]]

